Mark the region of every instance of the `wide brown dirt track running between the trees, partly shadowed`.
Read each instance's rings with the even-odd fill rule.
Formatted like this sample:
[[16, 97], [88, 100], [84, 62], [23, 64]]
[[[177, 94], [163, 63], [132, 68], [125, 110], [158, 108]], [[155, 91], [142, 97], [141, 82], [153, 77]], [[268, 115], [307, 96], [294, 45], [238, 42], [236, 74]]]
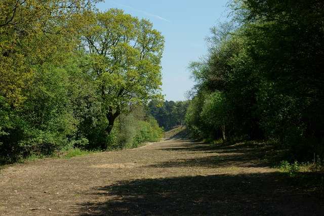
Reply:
[[1, 215], [324, 215], [259, 160], [265, 148], [169, 139], [0, 170]]

